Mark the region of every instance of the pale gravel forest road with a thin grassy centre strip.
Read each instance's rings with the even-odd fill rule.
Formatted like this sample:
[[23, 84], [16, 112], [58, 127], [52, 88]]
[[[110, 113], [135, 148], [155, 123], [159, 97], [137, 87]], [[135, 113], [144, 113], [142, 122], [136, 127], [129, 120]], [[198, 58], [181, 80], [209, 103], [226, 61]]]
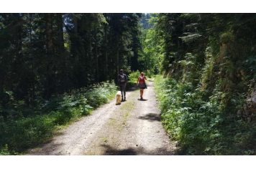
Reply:
[[160, 122], [153, 82], [127, 92], [127, 101], [112, 100], [60, 131], [27, 155], [173, 155], [175, 145]]

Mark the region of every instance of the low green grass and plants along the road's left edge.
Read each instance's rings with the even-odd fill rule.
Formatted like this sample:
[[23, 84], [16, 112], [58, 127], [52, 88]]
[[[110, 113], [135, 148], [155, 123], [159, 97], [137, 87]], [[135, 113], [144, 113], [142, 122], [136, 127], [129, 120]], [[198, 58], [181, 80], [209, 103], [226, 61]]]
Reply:
[[60, 128], [68, 127], [113, 99], [116, 90], [113, 83], [104, 83], [73, 90], [51, 100], [37, 100], [37, 108], [33, 110], [24, 105], [10, 107], [15, 113], [9, 113], [6, 118], [0, 116], [0, 155], [19, 155], [37, 147]]

